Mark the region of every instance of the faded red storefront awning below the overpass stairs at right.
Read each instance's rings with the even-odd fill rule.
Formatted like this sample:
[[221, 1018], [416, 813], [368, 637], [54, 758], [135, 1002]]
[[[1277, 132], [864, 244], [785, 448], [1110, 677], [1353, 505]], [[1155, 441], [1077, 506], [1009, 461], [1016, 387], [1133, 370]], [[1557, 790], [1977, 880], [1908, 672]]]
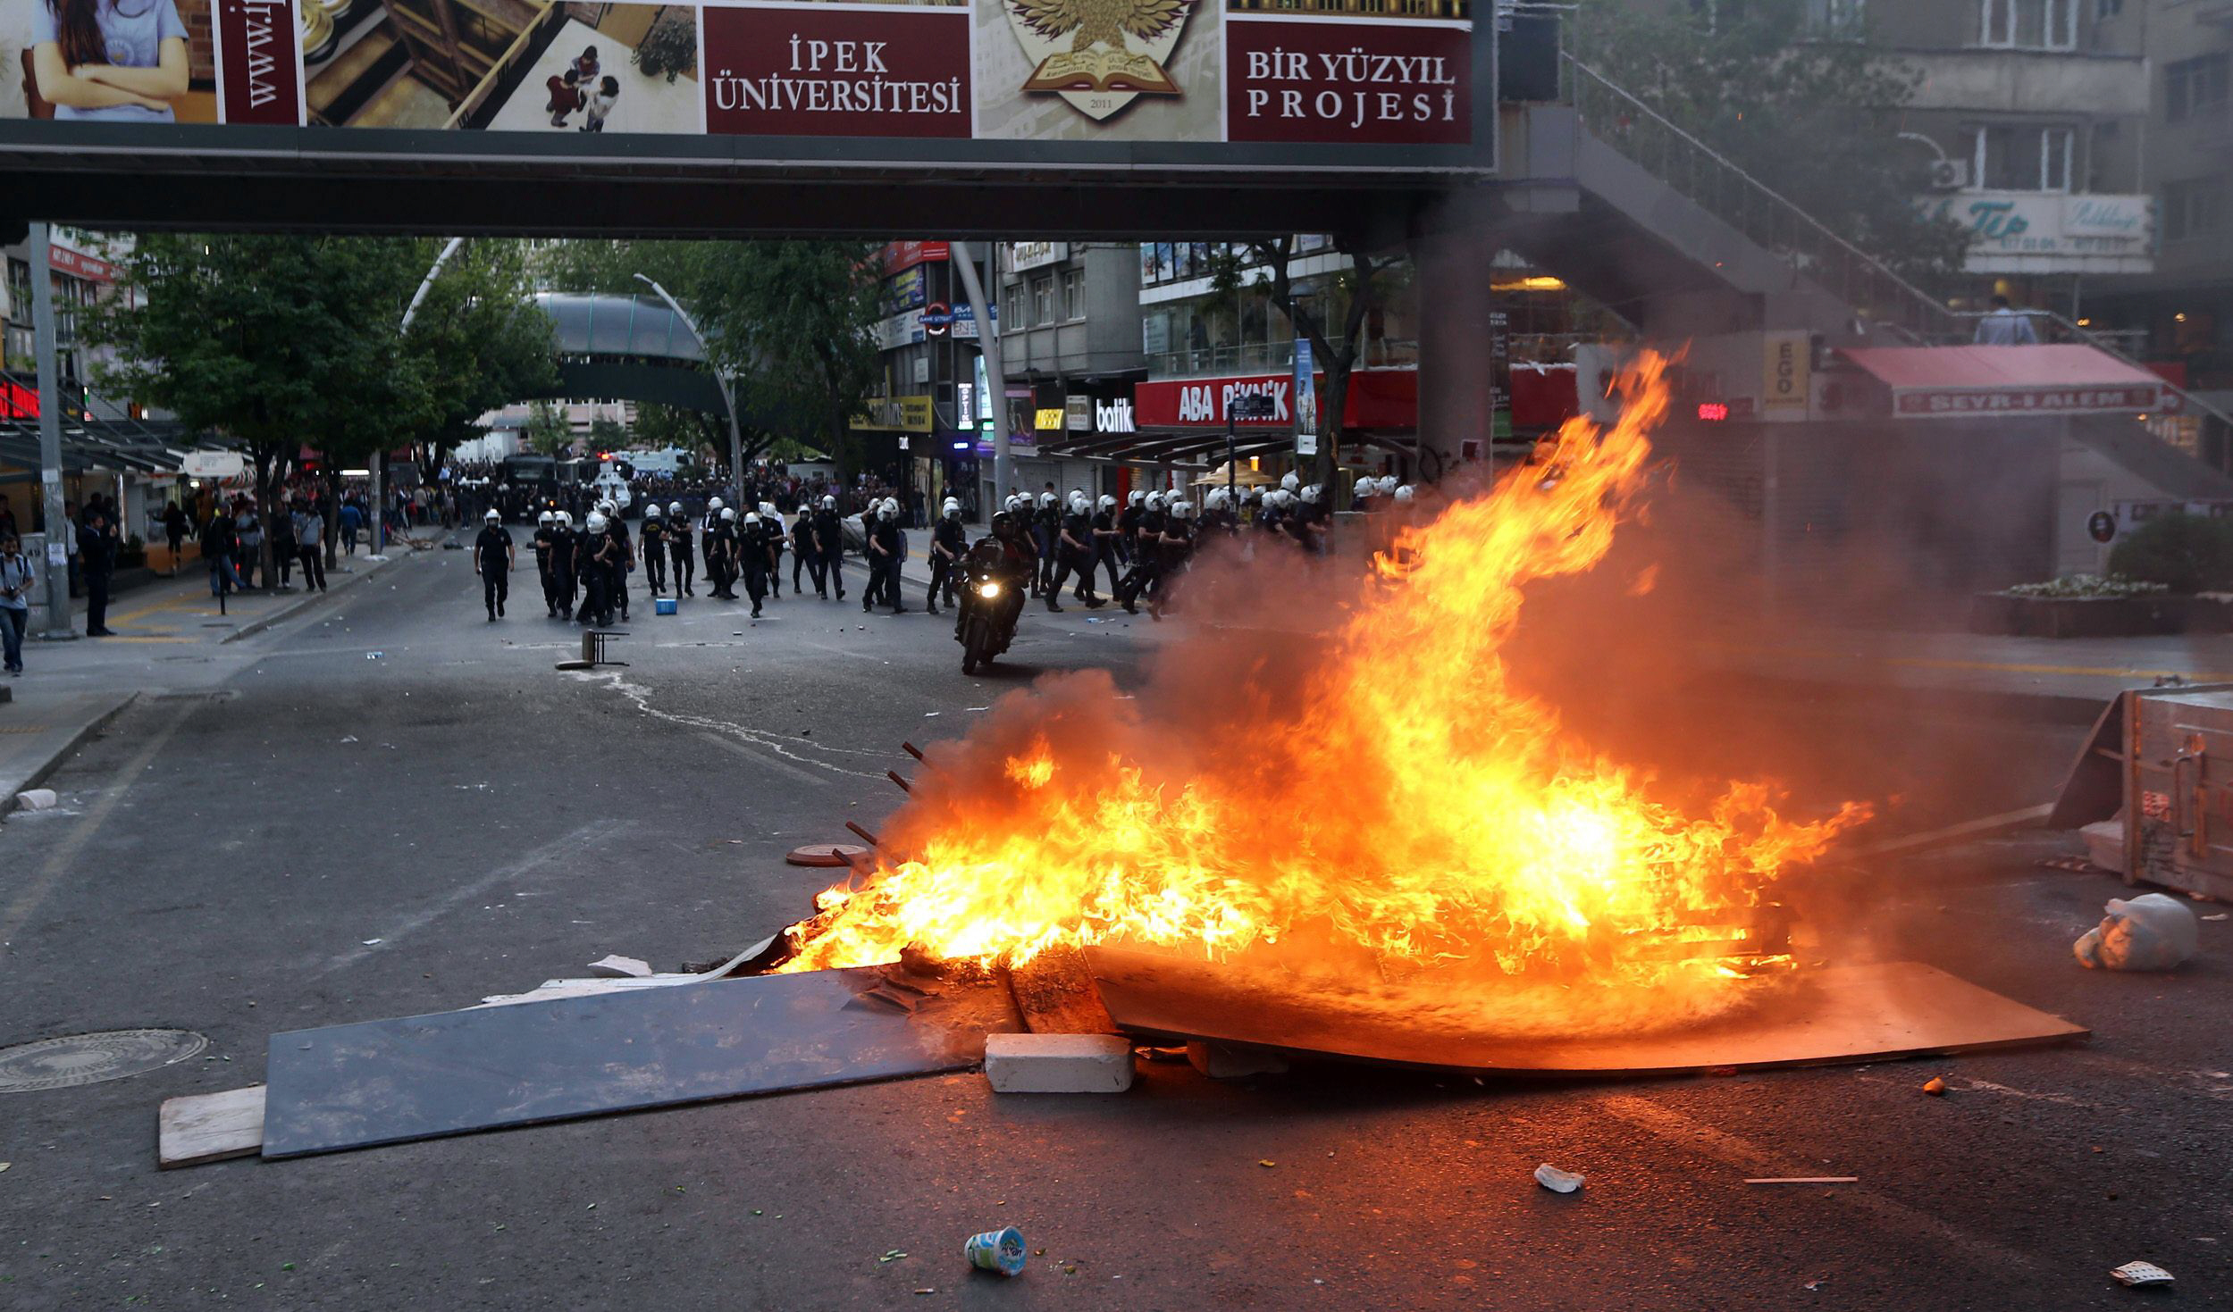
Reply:
[[1871, 346], [1844, 357], [1891, 390], [1900, 419], [2137, 415], [2179, 399], [2146, 368], [2079, 344]]

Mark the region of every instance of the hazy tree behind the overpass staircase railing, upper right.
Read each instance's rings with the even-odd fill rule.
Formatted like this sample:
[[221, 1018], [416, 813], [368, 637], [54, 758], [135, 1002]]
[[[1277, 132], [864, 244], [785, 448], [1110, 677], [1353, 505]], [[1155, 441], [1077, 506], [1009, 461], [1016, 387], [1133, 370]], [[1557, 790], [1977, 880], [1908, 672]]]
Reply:
[[1878, 261], [1911, 279], [1956, 270], [1967, 234], [1916, 208], [1929, 161], [1900, 141], [1920, 74], [1818, 9], [1583, 4], [1574, 51]]

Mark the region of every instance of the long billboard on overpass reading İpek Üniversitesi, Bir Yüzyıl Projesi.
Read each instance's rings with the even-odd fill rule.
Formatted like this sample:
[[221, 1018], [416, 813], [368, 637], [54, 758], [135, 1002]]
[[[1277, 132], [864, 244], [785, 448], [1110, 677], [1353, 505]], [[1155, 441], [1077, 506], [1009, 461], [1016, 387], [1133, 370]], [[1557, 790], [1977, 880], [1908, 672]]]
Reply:
[[[270, 149], [201, 132], [221, 125], [502, 136], [460, 147], [482, 156], [1480, 172], [1474, 2], [0, 0], [0, 141], [67, 149], [98, 123], [83, 141]], [[351, 132], [288, 147], [395, 145]]]

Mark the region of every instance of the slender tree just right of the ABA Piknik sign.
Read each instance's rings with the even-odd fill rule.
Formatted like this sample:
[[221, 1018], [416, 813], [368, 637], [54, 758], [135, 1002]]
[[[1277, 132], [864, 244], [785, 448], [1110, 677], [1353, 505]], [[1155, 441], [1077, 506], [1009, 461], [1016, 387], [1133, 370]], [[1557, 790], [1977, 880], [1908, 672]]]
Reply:
[[[1317, 393], [1317, 462], [1313, 482], [1324, 484], [1326, 504], [1340, 489], [1333, 480], [1342, 444], [1342, 411], [1349, 406], [1349, 375], [1364, 350], [1364, 328], [1409, 279], [1400, 254], [1373, 254], [1362, 245], [1338, 241], [1349, 268], [1329, 283], [1297, 283], [1293, 274], [1295, 239], [1253, 241], [1246, 257], [1221, 252], [1210, 266], [1210, 290], [1221, 297], [1264, 288], [1271, 303], [1286, 317], [1297, 341], [1311, 344], [1311, 366], [1324, 373]], [[1335, 326], [1340, 335], [1335, 337]]]

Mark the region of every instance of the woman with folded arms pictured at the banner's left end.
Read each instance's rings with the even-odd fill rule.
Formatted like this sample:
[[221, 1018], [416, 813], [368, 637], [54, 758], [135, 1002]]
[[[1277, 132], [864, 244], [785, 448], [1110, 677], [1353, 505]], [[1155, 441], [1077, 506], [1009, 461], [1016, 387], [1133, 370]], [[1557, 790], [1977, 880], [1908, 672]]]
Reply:
[[174, 0], [29, 0], [31, 71], [56, 118], [176, 123], [188, 89]]

